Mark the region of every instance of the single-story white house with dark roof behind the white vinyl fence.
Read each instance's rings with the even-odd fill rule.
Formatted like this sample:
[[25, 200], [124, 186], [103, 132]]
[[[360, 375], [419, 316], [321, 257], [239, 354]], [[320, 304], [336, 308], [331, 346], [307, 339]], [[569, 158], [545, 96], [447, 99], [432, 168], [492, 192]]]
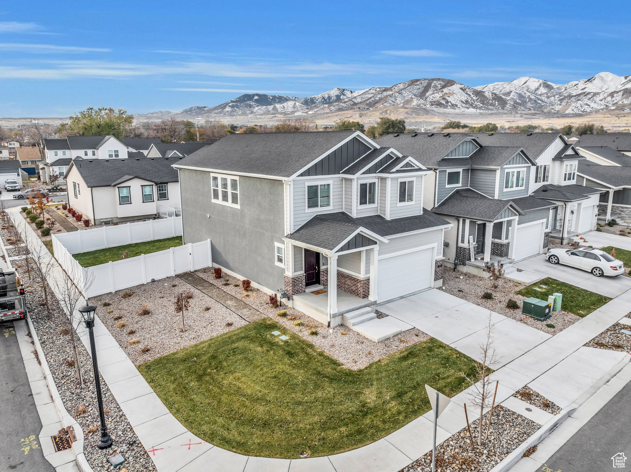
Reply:
[[177, 161], [74, 159], [66, 174], [68, 204], [92, 224], [158, 216], [161, 206], [180, 204], [178, 173], [172, 167]]

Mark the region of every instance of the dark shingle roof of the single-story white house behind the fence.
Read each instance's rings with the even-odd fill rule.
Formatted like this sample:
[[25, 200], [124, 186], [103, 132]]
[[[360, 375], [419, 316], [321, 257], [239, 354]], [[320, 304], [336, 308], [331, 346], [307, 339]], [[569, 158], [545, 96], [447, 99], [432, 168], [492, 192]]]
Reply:
[[154, 183], [177, 182], [177, 170], [172, 166], [178, 161], [178, 158], [81, 159], [73, 161], [73, 166], [88, 187], [105, 187], [129, 176]]

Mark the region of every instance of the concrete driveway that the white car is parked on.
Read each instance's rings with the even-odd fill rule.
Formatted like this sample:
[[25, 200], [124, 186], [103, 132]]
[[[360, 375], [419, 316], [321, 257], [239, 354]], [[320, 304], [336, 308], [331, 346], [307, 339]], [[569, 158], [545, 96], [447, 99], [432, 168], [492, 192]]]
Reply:
[[[613, 236], [613, 234], [609, 236]], [[552, 277], [566, 284], [572, 284], [581, 287], [581, 289], [611, 298], [615, 298], [631, 289], [630, 277], [625, 277], [624, 275], [619, 275], [618, 277], [594, 277], [591, 272], [586, 270], [570, 267], [569, 265], [551, 264], [543, 254], [517, 262], [514, 264], [514, 267], [540, 273], [545, 275], [545, 277]]]

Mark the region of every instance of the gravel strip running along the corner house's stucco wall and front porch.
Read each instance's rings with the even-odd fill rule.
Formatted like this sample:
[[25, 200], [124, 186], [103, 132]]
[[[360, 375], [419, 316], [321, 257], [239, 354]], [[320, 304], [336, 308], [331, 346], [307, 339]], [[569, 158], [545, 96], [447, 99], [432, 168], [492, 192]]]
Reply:
[[[382, 359], [382, 357], [386, 357], [404, 347], [430, 338], [427, 334], [423, 333], [423, 331], [416, 328], [404, 331], [380, 343], [375, 343], [363, 337], [360, 333], [357, 333], [357, 331], [346, 328], [344, 325], [335, 326], [333, 333], [329, 333], [326, 325], [302, 313], [302, 311], [289, 308], [284, 304], [282, 308], [273, 308], [269, 304], [268, 294], [264, 292], [252, 288], [247, 294], [244, 294], [241, 289], [241, 281], [235, 277], [224, 273], [221, 279], [215, 279], [215, 275], [211, 269], [201, 269], [197, 270], [195, 273], [223, 291], [249, 304], [252, 308], [256, 308], [265, 316], [283, 325], [286, 329], [305, 338], [321, 348], [328, 355], [353, 370], [362, 369], [375, 360]], [[235, 285], [238, 286], [235, 287]], [[281, 309], [287, 312], [286, 317], [276, 315], [276, 312]], [[295, 321], [302, 321], [302, 325], [294, 325]], [[310, 335], [311, 330], [317, 330], [317, 335]]]

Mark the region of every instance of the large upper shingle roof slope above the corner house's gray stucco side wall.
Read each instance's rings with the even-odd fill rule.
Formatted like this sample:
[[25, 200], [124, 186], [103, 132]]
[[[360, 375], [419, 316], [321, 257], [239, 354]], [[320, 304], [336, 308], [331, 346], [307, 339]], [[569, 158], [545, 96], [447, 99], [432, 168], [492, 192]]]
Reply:
[[354, 131], [228, 134], [180, 161], [182, 166], [290, 177]]

